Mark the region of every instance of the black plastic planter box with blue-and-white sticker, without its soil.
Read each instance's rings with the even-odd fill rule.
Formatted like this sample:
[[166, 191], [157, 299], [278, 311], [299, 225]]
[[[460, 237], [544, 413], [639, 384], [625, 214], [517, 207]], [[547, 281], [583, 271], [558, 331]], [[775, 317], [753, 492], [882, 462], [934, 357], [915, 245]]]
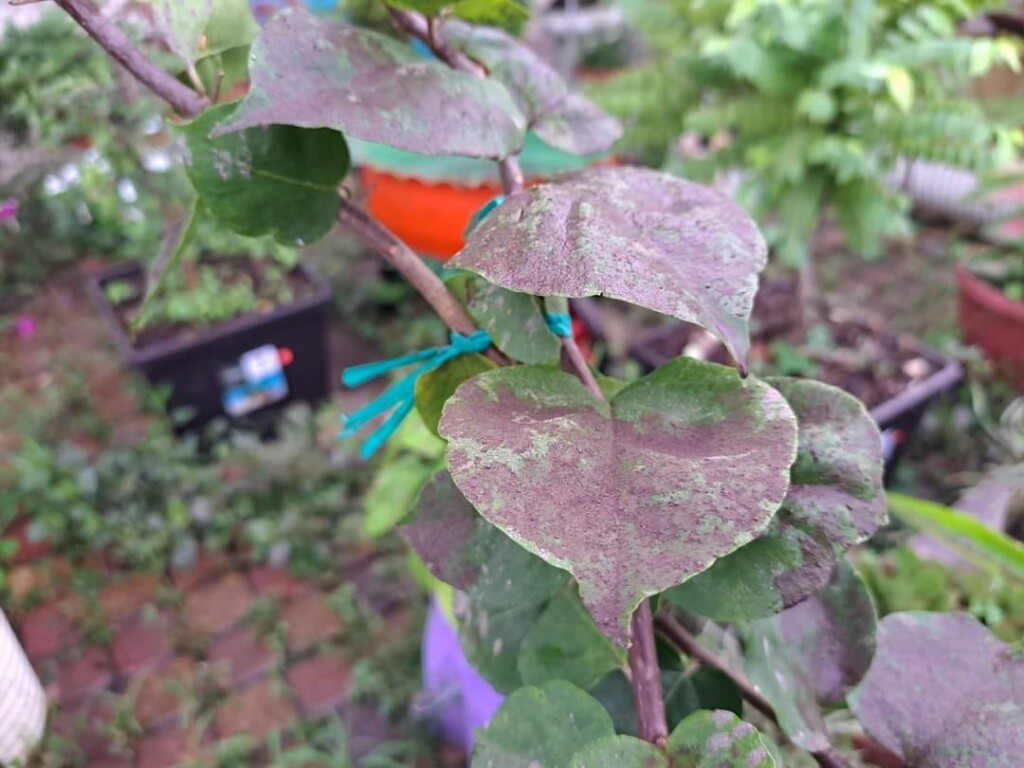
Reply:
[[290, 402], [316, 402], [328, 394], [327, 313], [331, 292], [307, 267], [297, 267], [308, 295], [261, 314], [203, 329], [187, 338], [135, 347], [106, 299], [108, 284], [143, 278], [140, 264], [115, 266], [88, 281], [88, 291], [110, 326], [125, 362], [154, 386], [169, 386], [170, 413], [184, 413], [178, 433], [217, 418], [260, 425]]

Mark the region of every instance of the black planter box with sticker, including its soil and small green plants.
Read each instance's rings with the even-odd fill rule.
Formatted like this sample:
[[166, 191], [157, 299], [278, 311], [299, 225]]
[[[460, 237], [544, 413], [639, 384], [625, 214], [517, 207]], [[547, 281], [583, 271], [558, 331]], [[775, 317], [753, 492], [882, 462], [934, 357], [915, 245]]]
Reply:
[[88, 281], [125, 362], [169, 387], [179, 431], [327, 396], [331, 293], [307, 267], [207, 253], [147, 286], [138, 262]]

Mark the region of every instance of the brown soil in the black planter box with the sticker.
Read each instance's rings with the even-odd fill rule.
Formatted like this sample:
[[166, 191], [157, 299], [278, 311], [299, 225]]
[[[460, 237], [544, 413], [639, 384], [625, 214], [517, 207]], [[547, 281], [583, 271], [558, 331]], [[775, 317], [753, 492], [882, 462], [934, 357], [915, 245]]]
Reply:
[[[242, 314], [231, 317], [229, 321], [223, 322], [226, 323], [240, 319], [242, 317], [252, 316], [253, 314], [265, 314], [273, 311], [278, 308], [278, 306], [280, 306], [280, 303], [276, 301], [276, 296], [269, 287], [268, 271], [271, 268], [269, 264], [257, 259], [232, 259], [223, 257], [204, 258], [201, 259], [198, 264], [215, 266], [217, 268], [218, 276], [222, 280], [222, 284], [224, 286], [231, 286], [247, 278], [252, 282], [253, 292], [258, 299], [258, 309], [255, 312], [243, 312]], [[186, 285], [189, 282], [195, 284], [196, 267], [197, 263], [195, 262], [189, 262], [181, 266]], [[300, 269], [293, 269], [285, 276], [288, 290], [291, 293], [291, 301], [303, 299], [312, 295], [315, 291], [314, 284], [309, 280], [306, 273]], [[112, 282], [114, 281], [106, 282], [104, 285], [109, 285]], [[144, 294], [145, 274], [142, 271], [139, 271], [134, 276], [118, 279], [117, 282], [127, 282], [134, 289], [133, 298], [122, 301], [121, 303], [115, 305], [113, 309], [121, 328], [131, 340], [132, 346], [136, 349], [143, 349], [147, 346], [164, 341], [170, 341], [172, 339], [184, 340], [193, 338], [203, 333], [203, 331], [211, 326], [211, 324], [201, 323], [187, 324], [157, 322], [152, 326], [134, 331], [131, 328], [131, 324], [135, 318]], [[288, 303], [291, 303], [291, 301]]]

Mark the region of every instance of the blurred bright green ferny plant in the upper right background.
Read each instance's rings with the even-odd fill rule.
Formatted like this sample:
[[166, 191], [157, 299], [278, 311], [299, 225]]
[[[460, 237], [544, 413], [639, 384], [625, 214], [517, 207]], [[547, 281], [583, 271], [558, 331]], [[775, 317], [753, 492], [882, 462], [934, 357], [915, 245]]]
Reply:
[[683, 168], [743, 173], [744, 202], [790, 265], [807, 259], [829, 208], [853, 251], [880, 255], [883, 238], [906, 225], [905, 196], [887, 181], [897, 161], [997, 168], [1020, 141], [1016, 125], [995, 122], [965, 94], [993, 66], [1019, 67], [1011, 39], [958, 30], [991, 3], [627, 5], [651, 59], [595, 92], [652, 162], [684, 130], [714, 140], [715, 151]]

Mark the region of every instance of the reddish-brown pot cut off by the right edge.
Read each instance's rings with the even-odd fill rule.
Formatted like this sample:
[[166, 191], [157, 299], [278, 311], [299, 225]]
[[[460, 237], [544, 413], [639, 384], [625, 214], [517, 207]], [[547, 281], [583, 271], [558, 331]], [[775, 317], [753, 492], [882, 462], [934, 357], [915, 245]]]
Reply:
[[956, 286], [964, 341], [980, 347], [1024, 388], [1024, 302], [1011, 299], [963, 264], [956, 267]]

